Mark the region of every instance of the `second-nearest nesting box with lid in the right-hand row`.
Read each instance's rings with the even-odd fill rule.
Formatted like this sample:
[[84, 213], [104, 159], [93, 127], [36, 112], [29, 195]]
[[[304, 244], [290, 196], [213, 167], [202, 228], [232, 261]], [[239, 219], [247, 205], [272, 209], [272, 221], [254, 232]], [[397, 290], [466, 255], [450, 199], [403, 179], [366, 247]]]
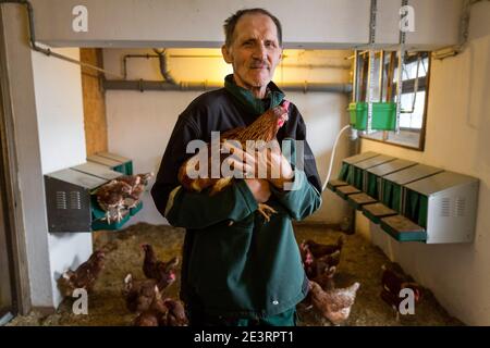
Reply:
[[441, 172], [443, 172], [443, 170], [439, 167], [416, 164], [405, 170], [383, 176], [381, 178], [381, 202], [397, 212], [402, 212], [403, 204], [405, 202], [404, 185]]

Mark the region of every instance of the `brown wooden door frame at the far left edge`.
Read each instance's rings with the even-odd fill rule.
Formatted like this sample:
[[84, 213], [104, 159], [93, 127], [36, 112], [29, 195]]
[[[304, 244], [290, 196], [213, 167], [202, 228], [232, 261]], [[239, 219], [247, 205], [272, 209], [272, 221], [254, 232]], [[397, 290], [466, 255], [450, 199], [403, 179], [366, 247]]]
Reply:
[[17, 179], [17, 158], [15, 152], [14, 116], [10, 95], [10, 74], [5, 47], [3, 11], [0, 8], [0, 181], [4, 207], [3, 219], [7, 232], [7, 247], [12, 283], [12, 314], [27, 314], [30, 311], [30, 286], [27, 269], [27, 251], [23, 223], [21, 188]]

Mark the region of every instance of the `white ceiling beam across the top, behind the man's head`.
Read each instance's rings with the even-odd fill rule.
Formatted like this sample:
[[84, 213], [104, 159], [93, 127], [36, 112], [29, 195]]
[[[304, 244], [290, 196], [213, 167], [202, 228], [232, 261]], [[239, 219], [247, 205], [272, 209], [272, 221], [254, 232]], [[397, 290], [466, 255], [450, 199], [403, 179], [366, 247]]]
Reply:
[[[369, 41], [369, 0], [32, 0], [37, 39], [51, 46], [220, 47], [222, 22], [243, 8], [261, 7], [284, 26], [287, 48], [352, 48]], [[411, 0], [415, 47], [457, 44], [463, 0]], [[73, 32], [75, 5], [87, 8], [87, 32]], [[400, 0], [378, 1], [377, 42], [399, 42]], [[53, 11], [52, 9], [56, 9]], [[434, 20], [436, 18], [436, 20]]]

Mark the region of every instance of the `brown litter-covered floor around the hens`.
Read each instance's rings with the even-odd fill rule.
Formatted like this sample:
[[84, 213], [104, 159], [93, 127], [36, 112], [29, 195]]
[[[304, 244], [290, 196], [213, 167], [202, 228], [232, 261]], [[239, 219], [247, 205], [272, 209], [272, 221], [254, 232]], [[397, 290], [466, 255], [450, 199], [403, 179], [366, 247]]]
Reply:
[[[332, 245], [343, 236], [340, 263], [335, 266], [332, 277], [334, 286], [346, 288], [358, 282], [360, 287], [348, 319], [341, 325], [462, 325], [446, 313], [429, 289], [424, 289], [424, 296], [416, 303], [414, 315], [400, 315], [400, 321], [396, 321], [392, 307], [380, 297], [383, 289], [381, 266], [390, 264], [390, 260], [360, 235], [343, 235], [323, 226], [308, 225], [296, 225], [295, 233], [298, 245], [307, 239]], [[106, 257], [103, 271], [100, 272], [88, 297], [88, 315], [73, 314], [73, 299], [66, 298], [53, 314], [32, 312], [29, 315], [15, 318], [9, 325], [132, 325], [136, 315], [126, 309], [125, 298], [121, 294], [124, 285], [122, 279], [127, 273], [132, 273], [136, 279], [145, 278], [140, 245], [150, 244], [161, 260], [180, 257], [184, 229], [140, 223], [119, 232], [99, 232], [94, 237], [94, 249], [103, 250]], [[162, 299], [179, 299], [179, 283], [180, 265], [176, 265], [175, 282], [164, 289]], [[332, 325], [317, 310], [307, 309], [310, 306], [298, 304], [298, 325]]]

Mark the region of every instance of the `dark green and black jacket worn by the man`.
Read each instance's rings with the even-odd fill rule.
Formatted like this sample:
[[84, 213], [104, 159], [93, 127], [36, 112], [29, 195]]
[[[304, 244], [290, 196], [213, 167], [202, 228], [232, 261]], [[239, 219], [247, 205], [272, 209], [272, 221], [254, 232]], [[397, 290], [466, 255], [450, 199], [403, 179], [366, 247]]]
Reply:
[[[273, 83], [269, 88], [279, 91]], [[267, 204], [278, 213], [268, 223], [243, 179], [209, 196], [186, 191], [176, 178], [180, 165], [194, 154], [186, 153], [188, 141], [208, 142], [212, 130], [247, 126], [257, 116], [229, 88], [196, 98], [175, 124], [151, 189], [169, 223], [186, 228], [181, 298], [188, 306], [199, 303], [210, 315], [275, 315], [296, 306], [308, 291], [292, 226], [293, 220], [305, 219], [321, 204], [321, 183], [306, 141], [301, 169], [292, 157], [296, 189], [272, 188]], [[306, 140], [305, 123], [293, 103], [289, 116], [278, 133], [280, 144]]]

